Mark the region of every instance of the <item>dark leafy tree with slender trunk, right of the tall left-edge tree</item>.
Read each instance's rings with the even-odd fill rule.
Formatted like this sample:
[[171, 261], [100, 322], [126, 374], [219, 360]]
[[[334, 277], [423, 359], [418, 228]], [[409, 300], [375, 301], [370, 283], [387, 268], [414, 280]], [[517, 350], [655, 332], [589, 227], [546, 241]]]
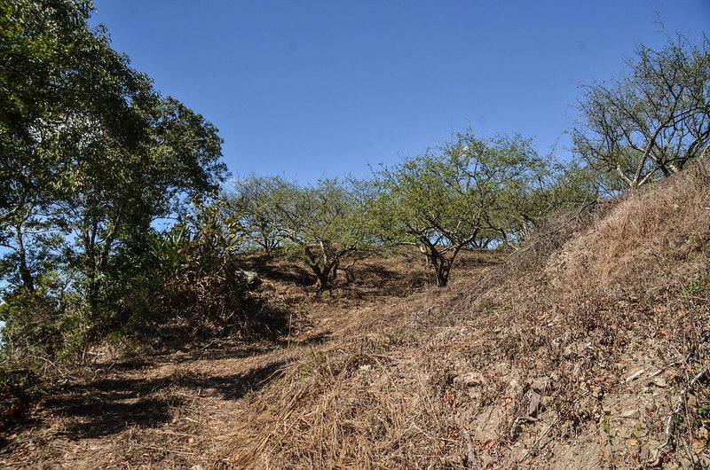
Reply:
[[154, 219], [179, 200], [216, 190], [222, 173], [214, 126], [172, 98], [143, 106], [146, 136], [135, 148], [83, 129], [91, 145], [67, 153], [71, 184], [53, 203], [69, 215], [63, 224], [75, 240], [92, 322], [112, 257], [141, 246]]

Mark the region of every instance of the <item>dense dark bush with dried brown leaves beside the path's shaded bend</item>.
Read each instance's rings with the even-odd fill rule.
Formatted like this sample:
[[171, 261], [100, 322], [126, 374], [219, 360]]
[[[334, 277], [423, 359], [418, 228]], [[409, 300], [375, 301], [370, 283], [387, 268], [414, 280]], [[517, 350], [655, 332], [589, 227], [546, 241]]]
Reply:
[[[122, 296], [121, 327], [154, 338], [166, 329], [184, 341], [227, 333], [282, 331], [280, 311], [264, 309], [234, 256], [241, 240], [221, 200], [195, 200], [168, 231], [153, 231], [147, 255]], [[112, 283], [113, 284], [113, 283]]]

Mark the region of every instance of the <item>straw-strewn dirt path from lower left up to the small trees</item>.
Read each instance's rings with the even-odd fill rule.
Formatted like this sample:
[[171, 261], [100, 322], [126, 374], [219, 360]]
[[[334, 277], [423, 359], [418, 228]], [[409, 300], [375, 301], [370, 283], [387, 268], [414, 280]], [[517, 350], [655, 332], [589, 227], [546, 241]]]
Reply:
[[[472, 269], [479, 265], [487, 269], [485, 262]], [[0, 468], [233, 467], [225, 456], [233, 454], [234, 430], [255, 412], [250, 405], [262, 388], [297, 367], [299, 358], [365, 333], [363, 322], [367, 331], [381, 329], [373, 326], [383, 321], [380, 309], [425, 284], [418, 272], [402, 268], [407, 274], [394, 276], [375, 268], [361, 274], [372, 278], [365, 287], [317, 301], [300, 286], [272, 283], [273, 296], [293, 297], [308, 311], [310, 327], [290, 339], [215, 341], [75, 371], [21, 431], [0, 443]]]

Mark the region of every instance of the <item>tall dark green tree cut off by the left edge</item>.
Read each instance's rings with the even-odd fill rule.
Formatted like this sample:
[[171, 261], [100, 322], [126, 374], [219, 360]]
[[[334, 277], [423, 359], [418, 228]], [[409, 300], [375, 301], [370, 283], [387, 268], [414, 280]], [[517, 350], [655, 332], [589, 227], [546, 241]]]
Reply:
[[90, 146], [80, 129], [101, 129], [124, 146], [141, 134], [130, 102], [150, 84], [102, 29], [91, 31], [90, 14], [84, 1], [0, 4], [0, 238], [30, 291], [37, 260], [26, 247], [64, 228], [52, 205], [71, 185], [70, 148]]

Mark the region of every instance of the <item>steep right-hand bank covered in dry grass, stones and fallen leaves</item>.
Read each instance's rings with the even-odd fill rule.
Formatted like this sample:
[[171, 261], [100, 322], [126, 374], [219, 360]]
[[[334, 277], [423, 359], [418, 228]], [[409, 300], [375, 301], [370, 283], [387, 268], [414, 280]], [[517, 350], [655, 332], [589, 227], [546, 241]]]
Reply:
[[[709, 204], [698, 166], [550, 221], [507, 262], [467, 270], [443, 291], [343, 317], [337, 341], [289, 364], [260, 394], [234, 431], [228, 461], [706, 466], [697, 438], [707, 426], [706, 382], [684, 387], [710, 364], [702, 340]], [[534, 388], [539, 379], [544, 390]], [[533, 392], [543, 404], [530, 419]], [[666, 440], [667, 419], [682, 419], [678, 396], [685, 425], [647, 463]]]

